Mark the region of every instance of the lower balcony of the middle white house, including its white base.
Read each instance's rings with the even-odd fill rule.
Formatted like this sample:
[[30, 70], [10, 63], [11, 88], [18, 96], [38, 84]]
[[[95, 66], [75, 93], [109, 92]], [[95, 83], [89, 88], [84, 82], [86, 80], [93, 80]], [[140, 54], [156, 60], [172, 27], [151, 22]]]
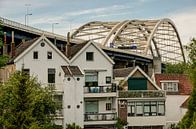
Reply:
[[116, 113], [84, 114], [85, 125], [114, 124], [116, 122], [116, 119], [117, 119]]

